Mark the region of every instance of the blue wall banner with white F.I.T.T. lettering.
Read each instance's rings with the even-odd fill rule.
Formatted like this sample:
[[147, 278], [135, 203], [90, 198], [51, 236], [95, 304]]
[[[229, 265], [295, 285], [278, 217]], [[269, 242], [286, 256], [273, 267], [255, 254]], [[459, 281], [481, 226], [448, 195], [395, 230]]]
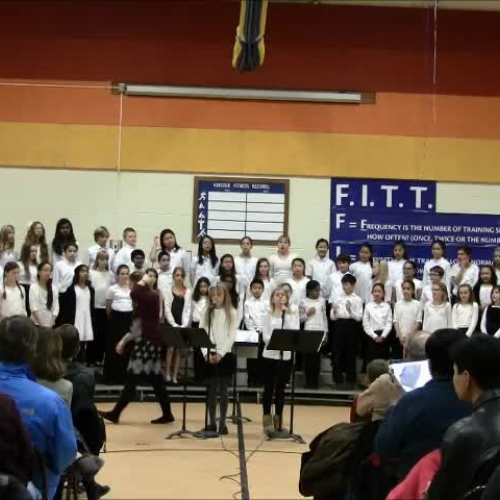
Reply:
[[500, 246], [500, 215], [436, 212], [435, 182], [332, 179], [332, 257], [346, 252], [356, 259], [368, 242], [375, 257], [391, 258], [392, 244], [402, 240], [420, 271], [435, 239], [446, 243], [452, 263], [457, 247], [468, 245], [474, 262], [490, 264]]

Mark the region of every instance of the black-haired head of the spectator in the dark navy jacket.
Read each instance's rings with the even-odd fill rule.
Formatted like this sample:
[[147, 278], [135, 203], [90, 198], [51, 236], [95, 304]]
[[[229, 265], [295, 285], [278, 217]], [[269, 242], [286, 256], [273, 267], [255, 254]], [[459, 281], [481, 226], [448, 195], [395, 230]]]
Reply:
[[451, 353], [464, 334], [454, 328], [436, 330], [425, 343], [425, 354], [433, 378], [453, 378], [453, 359]]

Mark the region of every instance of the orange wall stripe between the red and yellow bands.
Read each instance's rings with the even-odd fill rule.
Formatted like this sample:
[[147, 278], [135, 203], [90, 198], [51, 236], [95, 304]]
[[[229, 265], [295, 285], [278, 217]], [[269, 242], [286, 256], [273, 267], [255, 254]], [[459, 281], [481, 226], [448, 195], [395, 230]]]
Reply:
[[[0, 121], [118, 125], [119, 97], [106, 89], [0, 86]], [[500, 139], [500, 98], [380, 93], [376, 104], [356, 106], [126, 97], [123, 123]]]

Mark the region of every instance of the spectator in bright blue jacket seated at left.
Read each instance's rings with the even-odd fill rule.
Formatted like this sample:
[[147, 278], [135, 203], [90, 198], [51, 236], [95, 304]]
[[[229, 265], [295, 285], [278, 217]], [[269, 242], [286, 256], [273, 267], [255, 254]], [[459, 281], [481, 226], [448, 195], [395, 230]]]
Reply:
[[[76, 438], [68, 405], [30, 373], [36, 339], [35, 325], [24, 316], [0, 323], [0, 391], [16, 403], [33, 446], [44, 459], [47, 494], [52, 499], [61, 474], [76, 457]], [[33, 484], [38, 491], [43, 490], [40, 472]]]

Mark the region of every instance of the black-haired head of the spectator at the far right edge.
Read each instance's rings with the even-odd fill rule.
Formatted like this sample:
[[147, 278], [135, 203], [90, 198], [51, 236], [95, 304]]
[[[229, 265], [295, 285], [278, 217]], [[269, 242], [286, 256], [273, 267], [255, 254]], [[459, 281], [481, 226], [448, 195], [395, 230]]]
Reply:
[[500, 340], [473, 335], [454, 347], [452, 358], [457, 372], [467, 372], [481, 391], [500, 389]]

